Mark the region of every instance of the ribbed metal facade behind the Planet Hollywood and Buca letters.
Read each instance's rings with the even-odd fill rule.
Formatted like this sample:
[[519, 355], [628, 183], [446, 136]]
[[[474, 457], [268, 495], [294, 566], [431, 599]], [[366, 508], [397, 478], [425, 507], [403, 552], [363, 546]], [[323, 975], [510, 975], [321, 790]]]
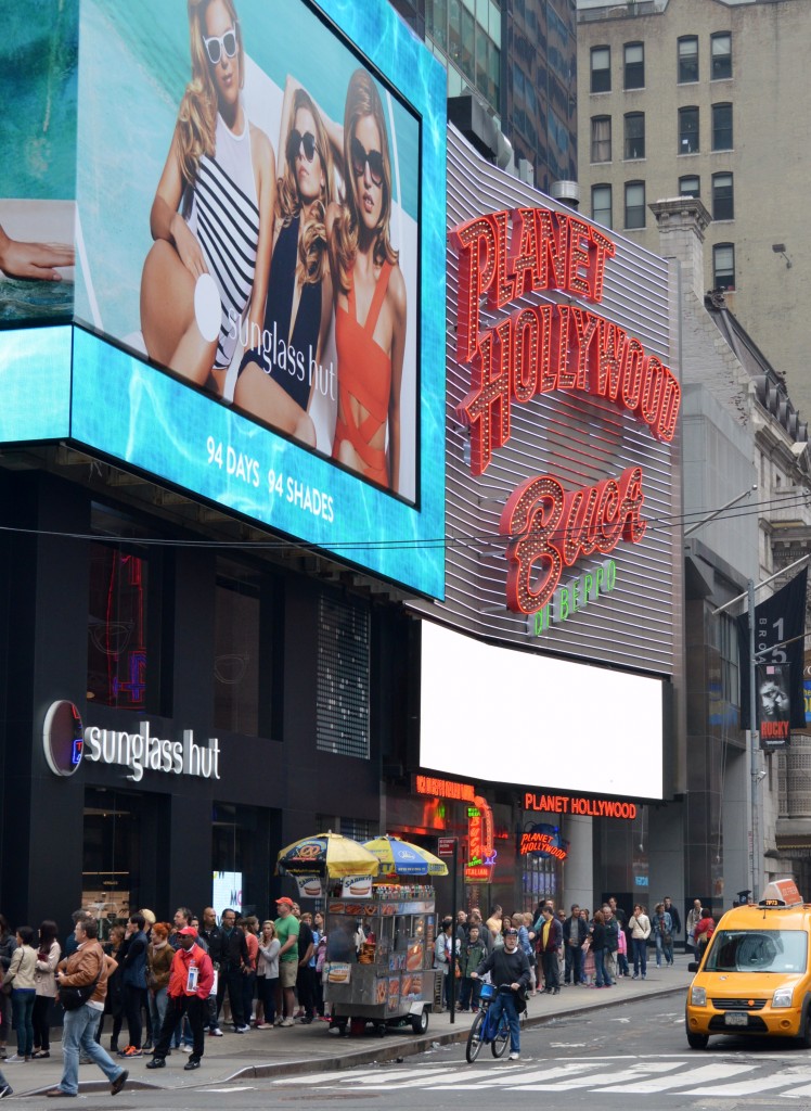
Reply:
[[[488, 212], [518, 207], [561, 206], [483, 162], [449, 129], [448, 228]], [[668, 263], [613, 233], [615, 256], [605, 268], [601, 303], [549, 290], [528, 294], [494, 313], [482, 309], [480, 327], [491, 328], [518, 308], [580, 304], [638, 338], [678, 374], [671, 363]], [[638, 417], [602, 398], [555, 390], [528, 403], [511, 403], [511, 436], [495, 449], [481, 476], [470, 468], [469, 431], [458, 407], [471, 389], [471, 368], [455, 359], [459, 258], [448, 252], [447, 370], [447, 598], [417, 609], [460, 631], [512, 645], [553, 652], [613, 667], [673, 675], [681, 652], [681, 551], [679, 432], [671, 443], [657, 440]], [[567, 491], [619, 478], [628, 467], [644, 472], [642, 517], [647, 532], [639, 543], [619, 542], [607, 557], [578, 560], [563, 568], [561, 585], [615, 561], [610, 593], [589, 601], [565, 621], [535, 634], [534, 619], [505, 605], [507, 538], [499, 534], [504, 503], [533, 476], [551, 474]]]

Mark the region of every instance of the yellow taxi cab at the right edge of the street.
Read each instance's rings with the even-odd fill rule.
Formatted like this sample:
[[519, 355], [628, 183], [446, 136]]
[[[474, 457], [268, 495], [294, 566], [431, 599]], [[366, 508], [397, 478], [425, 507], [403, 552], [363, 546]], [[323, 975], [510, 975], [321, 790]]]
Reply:
[[767, 884], [757, 904], [721, 918], [687, 997], [687, 1040], [711, 1034], [799, 1038], [811, 1048], [811, 903], [793, 880]]

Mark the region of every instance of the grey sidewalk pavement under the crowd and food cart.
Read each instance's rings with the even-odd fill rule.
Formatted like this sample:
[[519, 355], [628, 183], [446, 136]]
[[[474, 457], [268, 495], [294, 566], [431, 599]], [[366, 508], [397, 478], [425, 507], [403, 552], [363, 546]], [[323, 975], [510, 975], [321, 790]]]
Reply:
[[[652, 963], [648, 965], [647, 980], [622, 979], [608, 990], [561, 987], [559, 995], [535, 995], [529, 1000], [527, 1025], [534, 1027], [551, 1018], [612, 1007], [629, 999], [682, 994], [692, 980], [692, 973], [687, 970], [691, 959], [684, 953], [677, 953], [674, 968], [658, 969]], [[272, 1030], [251, 1030], [246, 1034], [227, 1032], [223, 1038], [207, 1035], [202, 1067], [194, 1072], [183, 1071], [189, 1058], [177, 1050], [167, 1059], [166, 1069], [160, 1071], [147, 1069], [149, 1057], [122, 1061], [130, 1073], [127, 1090], [209, 1088], [212, 1083], [221, 1084], [229, 1080], [283, 1078], [307, 1072], [352, 1069], [374, 1061], [391, 1061], [424, 1052], [433, 1042], [448, 1044], [464, 1041], [472, 1015], [457, 1014], [455, 1020], [451, 1023], [448, 1013], [430, 1014], [428, 1033], [421, 1038], [415, 1038], [408, 1027], [392, 1029], [384, 1038], [372, 1032], [371, 1028], [360, 1037], [340, 1038], [328, 1033], [328, 1024], [319, 1021], [311, 1025], [297, 1023], [286, 1029], [277, 1027]], [[108, 1035], [102, 1038], [102, 1043], [104, 1048], [109, 1045]], [[9, 1053], [12, 1051], [13, 1037], [9, 1040]], [[14, 1097], [41, 1095], [48, 1088], [59, 1083], [62, 1074], [61, 1044], [58, 1041], [51, 1043], [51, 1057], [48, 1061], [3, 1063], [2, 1068], [14, 1090]], [[110, 1085], [96, 1065], [81, 1065], [79, 1077], [82, 1093], [109, 1092]]]

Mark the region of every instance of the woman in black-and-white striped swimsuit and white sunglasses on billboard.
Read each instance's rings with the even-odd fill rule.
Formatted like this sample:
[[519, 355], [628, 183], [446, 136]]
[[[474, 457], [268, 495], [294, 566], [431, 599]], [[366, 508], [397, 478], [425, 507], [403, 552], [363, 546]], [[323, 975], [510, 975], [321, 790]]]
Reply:
[[249, 332], [262, 326], [276, 159], [242, 103], [232, 0], [188, 7], [192, 79], [152, 203], [141, 329], [150, 358], [222, 393], [246, 311]]

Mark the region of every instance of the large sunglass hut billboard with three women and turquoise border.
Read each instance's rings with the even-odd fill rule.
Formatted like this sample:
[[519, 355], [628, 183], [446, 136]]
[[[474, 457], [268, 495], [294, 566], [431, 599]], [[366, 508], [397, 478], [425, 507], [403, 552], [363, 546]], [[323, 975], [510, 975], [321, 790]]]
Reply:
[[441, 597], [441, 68], [384, 0], [67, 8], [70, 438]]

